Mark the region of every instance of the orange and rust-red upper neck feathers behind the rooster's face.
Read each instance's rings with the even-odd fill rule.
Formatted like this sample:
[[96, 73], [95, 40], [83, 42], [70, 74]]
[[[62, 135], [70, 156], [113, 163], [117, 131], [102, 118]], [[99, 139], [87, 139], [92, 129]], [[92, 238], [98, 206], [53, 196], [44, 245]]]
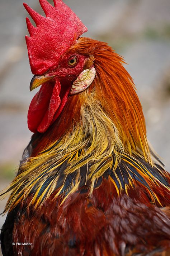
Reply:
[[[152, 164], [141, 103], [133, 80], [122, 65], [122, 57], [103, 42], [89, 38], [80, 38], [77, 41], [71, 51], [94, 57], [96, 78], [86, 91], [69, 97], [61, 115], [44, 135], [34, 136], [32, 156], [36, 156], [64, 134], [71, 132], [76, 124], [81, 125], [84, 118], [83, 108], [89, 105], [90, 109], [96, 109], [97, 105], [100, 105], [101, 111], [112, 120], [117, 129], [125, 151], [129, 154], [138, 151], [145, 157], [146, 162]], [[93, 111], [94, 119], [96, 115]], [[96, 129], [99, 130], [100, 125], [96, 126]]]

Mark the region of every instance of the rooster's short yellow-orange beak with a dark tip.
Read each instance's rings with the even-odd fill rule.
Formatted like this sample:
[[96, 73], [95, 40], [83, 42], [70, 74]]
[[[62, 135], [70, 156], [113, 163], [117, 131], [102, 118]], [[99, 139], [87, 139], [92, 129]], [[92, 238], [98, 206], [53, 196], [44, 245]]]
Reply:
[[38, 86], [52, 80], [56, 75], [35, 75], [30, 82], [30, 92], [36, 89]]

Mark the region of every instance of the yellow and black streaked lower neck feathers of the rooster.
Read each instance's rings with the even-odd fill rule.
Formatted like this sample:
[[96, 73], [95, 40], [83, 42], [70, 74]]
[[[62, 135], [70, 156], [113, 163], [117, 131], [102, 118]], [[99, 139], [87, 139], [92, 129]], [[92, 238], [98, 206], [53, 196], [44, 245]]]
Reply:
[[29, 206], [34, 208], [52, 195], [57, 200], [62, 198], [62, 204], [75, 192], [92, 194], [104, 180], [109, 180], [118, 196], [128, 195], [130, 188], [140, 185], [150, 202], [161, 205], [163, 189], [169, 193], [166, 173], [156, 164], [151, 167], [139, 153], [125, 152], [113, 121], [99, 102], [94, 106], [93, 102], [89, 97], [80, 110], [81, 122], [70, 133], [20, 166], [5, 211], [30, 195]]

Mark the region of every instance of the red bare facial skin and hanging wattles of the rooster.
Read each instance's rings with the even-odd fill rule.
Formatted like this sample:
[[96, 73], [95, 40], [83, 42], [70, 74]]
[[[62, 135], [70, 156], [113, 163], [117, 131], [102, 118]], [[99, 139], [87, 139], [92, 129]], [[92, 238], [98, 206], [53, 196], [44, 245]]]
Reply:
[[[71, 67], [68, 62], [73, 57], [77, 58], [77, 63], [76, 66]], [[43, 84], [30, 103], [28, 110], [30, 131], [44, 133], [55, 122], [67, 102], [73, 81], [83, 70], [84, 62], [85, 56], [70, 53], [62, 56], [57, 68], [48, 71], [48, 74], [56, 77], [54, 81]]]

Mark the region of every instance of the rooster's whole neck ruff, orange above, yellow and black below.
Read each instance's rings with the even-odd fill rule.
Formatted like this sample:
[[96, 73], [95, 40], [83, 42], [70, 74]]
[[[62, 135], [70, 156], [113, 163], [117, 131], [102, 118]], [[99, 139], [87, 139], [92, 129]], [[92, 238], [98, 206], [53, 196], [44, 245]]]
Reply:
[[34, 135], [32, 158], [7, 189], [12, 193], [5, 211], [28, 196], [37, 207], [52, 193], [62, 202], [82, 187], [92, 193], [106, 177], [118, 194], [140, 183], [152, 202], [160, 202], [156, 188], [168, 189], [166, 173], [152, 163], [141, 105], [121, 57], [85, 38], [71, 50], [94, 57], [96, 78], [69, 98], [44, 135]]

